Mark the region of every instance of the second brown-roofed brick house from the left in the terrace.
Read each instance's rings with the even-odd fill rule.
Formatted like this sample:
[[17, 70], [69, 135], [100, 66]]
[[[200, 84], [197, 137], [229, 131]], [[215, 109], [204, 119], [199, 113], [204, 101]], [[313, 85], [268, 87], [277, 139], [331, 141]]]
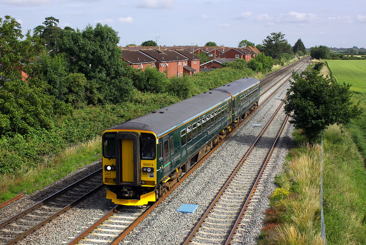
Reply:
[[139, 52], [155, 59], [156, 68], [161, 73], [167, 73], [168, 78], [183, 76], [183, 63], [187, 63], [187, 57], [184, 57], [175, 51], [168, 50], [164, 50], [164, 53], [158, 53], [151, 49], [141, 49]]

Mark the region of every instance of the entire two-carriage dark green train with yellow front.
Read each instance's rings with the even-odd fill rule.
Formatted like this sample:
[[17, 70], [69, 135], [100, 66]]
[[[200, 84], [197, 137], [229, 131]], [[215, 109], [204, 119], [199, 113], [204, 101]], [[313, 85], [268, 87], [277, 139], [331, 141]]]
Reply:
[[102, 162], [107, 198], [124, 205], [155, 201], [258, 100], [258, 79], [242, 78], [106, 130]]

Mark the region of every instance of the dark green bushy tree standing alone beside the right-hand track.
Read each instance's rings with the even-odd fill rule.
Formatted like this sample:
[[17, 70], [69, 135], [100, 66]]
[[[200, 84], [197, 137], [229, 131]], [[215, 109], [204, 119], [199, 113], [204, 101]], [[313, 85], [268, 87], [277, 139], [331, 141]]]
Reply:
[[300, 74], [292, 72], [292, 78], [285, 112], [294, 112], [290, 114], [290, 122], [296, 129], [302, 129], [310, 141], [316, 140], [329, 125], [348, 123], [361, 114], [358, 104], [351, 102], [351, 85], [337, 84], [314, 69]]

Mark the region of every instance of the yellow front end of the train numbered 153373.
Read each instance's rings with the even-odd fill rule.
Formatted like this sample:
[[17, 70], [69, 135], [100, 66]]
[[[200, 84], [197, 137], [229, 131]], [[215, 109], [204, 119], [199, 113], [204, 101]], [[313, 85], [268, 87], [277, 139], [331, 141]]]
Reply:
[[156, 136], [107, 130], [102, 136], [103, 183], [107, 199], [123, 205], [156, 201]]

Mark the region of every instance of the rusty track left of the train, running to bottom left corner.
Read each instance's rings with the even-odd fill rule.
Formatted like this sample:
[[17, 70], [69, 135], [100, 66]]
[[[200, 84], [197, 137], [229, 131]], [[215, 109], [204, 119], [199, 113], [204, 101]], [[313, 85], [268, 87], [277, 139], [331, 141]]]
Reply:
[[102, 169], [0, 223], [0, 245], [11, 245], [102, 188]]

